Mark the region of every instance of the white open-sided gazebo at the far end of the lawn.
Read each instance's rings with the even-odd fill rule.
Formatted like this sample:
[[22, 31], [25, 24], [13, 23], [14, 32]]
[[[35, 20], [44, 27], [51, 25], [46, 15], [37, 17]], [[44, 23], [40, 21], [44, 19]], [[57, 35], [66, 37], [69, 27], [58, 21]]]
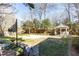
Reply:
[[59, 31], [59, 35], [69, 35], [69, 31], [68, 31], [68, 29], [69, 29], [69, 27], [68, 26], [66, 26], [66, 25], [64, 25], [64, 24], [60, 24], [60, 25], [58, 25], [58, 26], [56, 26], [55, 28], [54, 28], [55, 30], [54, 30], [54, 34], [55, 35], [57, 35], [58, 33], [57, 33], [57, 30]]

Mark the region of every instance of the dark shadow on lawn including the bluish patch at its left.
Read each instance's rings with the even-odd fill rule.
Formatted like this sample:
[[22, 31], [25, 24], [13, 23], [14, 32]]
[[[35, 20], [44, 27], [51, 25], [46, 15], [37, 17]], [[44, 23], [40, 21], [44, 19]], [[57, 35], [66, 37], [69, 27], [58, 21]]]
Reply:
[[33, 56], [67, 56], [68, 45], [66, 39], [47, 38], [33, 46], [31, 53]]

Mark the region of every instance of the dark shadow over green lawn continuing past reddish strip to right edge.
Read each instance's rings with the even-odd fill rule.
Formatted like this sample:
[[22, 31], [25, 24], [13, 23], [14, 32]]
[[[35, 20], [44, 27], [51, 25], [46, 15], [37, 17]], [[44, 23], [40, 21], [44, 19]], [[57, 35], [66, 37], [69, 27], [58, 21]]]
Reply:
[[[75, 48], [76, 55], [79, 55], [79, 37], [75, 38], [47, 38], [39, 43], [40, 56], [68, 56], [68, 40], [72, 40], [72, 47]], [[73, 51], [71, 51], [73, 52]]]

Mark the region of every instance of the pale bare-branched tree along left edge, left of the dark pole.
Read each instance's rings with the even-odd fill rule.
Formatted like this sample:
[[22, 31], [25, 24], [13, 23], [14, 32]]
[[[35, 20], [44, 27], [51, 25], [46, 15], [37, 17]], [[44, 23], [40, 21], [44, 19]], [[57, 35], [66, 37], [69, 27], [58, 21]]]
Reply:
[[9, 7], [11, 6], [12, 6], [11, 4], [3, 4], [3, 3], [0, 4], [0, 29], [1, 29], [2, 35], [6, 35], [6, 32], [10, 27], [9, 23], [11, 23], [10, 22], [11, 20], [8, 21], [9, 20], [8, 15], [12, 14], [12, 12], [9, 9]]

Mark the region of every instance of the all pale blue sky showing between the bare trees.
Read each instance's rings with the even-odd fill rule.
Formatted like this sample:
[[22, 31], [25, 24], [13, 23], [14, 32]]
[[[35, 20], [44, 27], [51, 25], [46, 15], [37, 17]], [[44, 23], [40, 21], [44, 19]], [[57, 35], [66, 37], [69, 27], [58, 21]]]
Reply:
[[[25, 7], [22, 3], [16, 3], [13, 6], [16, 8], [17, 13], [15, 15], [16, 15], [16, 18], [18, 19], [19, 24], [21, 24], [22, 21], [30, 19], [30, 10], [28, 6]], [[35, 6], [37, 9], [33, 12], [34, 13], [33, 18], [39, 19], [37, 15], [39, 4], [35, 4]], [[48, 4], [46, 9], [46, 18], [49, 18], [50, 20], [57, 18], [58, 21], [61, 19], [64, 19], [66, 17], [66, 13], [64, 10], [65, 10], [64, 4]], [[62, 18], [61, 18], [61, 15], [63, 16]], [[71, 18], [73, 18], [73, 16]]]

